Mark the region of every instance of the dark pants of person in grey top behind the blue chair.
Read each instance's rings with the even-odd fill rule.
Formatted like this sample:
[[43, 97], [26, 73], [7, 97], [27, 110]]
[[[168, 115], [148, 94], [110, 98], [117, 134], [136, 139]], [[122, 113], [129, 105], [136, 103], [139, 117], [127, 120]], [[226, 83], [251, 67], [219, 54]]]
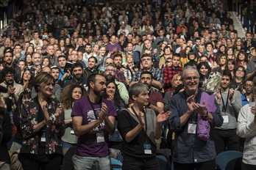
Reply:
[[239, 136], [236, 134], [236, 129], [220, 130], [214, 129], [214, 142], [216, 154], [218, 155], [227, 147], [227, 150], [239, 151]]

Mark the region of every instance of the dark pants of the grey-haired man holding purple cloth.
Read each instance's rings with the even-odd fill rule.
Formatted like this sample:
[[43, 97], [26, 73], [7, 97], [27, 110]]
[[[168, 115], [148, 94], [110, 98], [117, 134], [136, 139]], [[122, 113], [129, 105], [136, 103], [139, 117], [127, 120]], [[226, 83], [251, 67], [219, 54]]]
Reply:
[[174, 162], [174, 170], [215, 170], [215, 159], [203, 163], [177, 163]]

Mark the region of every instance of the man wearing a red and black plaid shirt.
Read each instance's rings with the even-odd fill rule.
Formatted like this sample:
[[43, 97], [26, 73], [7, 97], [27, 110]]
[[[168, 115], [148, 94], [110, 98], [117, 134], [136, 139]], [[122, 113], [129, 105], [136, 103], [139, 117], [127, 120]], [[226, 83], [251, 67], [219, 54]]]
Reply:
[[165, 89], [165, 92], [171, 90], [171, 81], [172, 81], [172, 78], [174, 78], [174, 75], [182, 72], [183, 68], [179, 67], [179, 64], [180, 64], [179, 53], [174, 53], [171, 67], [166, 67], [163, 70], [163, 89]]

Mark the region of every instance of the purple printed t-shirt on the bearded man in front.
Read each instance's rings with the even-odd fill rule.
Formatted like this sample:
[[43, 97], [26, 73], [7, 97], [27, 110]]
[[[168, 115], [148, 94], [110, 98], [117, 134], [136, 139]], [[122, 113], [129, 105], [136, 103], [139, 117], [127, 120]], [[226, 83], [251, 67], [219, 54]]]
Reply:
[[[116, 116], [115, 106], [110, 100], [102, 98], [102, 103], [107, 105], [107, 116]], [[99, 117], [100, 103], [92, 103], [97, 117]], [[88, 97], [83, 97], [74, 103], [72, 108], [72, 117], [82, 117], [82, 125], [88, 125], [91, 122], [96, 121], [93, 113], [93, 108], [90, 106]], [[104, 133], [104, 141], [97, 142], [97, 133]], [[78, 137], [77, 140], [77, 155], [90, 156], [90, 157], [104, 157], [109, 155], [109, 133], [104, 128], [104, 121], [101, 125], [90, 130], [89, 133], [85, 133]]]

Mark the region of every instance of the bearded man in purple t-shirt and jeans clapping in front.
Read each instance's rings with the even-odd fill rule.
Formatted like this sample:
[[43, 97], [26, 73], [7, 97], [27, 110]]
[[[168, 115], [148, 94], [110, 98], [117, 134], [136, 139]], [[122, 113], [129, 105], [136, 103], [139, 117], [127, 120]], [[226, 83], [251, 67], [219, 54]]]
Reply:
[[79, 136], [74, 169], [110, 170], [109, 135], [115, 132], [115, 107], [106, 94], [106, 78], [92, 74], [88, 78], [89, 94], [74, 103], [72, 122]]

